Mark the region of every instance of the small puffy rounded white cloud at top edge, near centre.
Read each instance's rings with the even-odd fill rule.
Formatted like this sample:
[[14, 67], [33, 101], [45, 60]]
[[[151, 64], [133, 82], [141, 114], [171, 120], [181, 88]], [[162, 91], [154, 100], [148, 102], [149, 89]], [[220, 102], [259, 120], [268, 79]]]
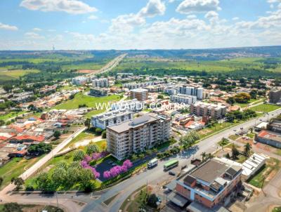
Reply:
[[166, 11], [166, 6], [161, 0], [150, 0], [148, 4], [141, 9], [139, 15], [143, 17], [154, 17], [155, 15], [163, 15]]

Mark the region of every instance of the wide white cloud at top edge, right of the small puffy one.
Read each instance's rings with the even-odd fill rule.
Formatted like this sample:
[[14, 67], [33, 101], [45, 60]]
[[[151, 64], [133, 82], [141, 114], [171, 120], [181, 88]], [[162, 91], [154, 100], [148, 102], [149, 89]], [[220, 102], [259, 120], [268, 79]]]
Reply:
[[178, 5], [178, 13], [204, 13], [208, 11], [219, 11], [219, 0], [184, 0]]

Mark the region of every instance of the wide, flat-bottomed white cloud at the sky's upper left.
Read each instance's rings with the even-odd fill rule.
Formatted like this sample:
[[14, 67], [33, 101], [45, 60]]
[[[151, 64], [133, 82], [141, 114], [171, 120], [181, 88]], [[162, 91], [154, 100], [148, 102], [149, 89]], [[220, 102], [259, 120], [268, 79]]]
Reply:
[[20, 6], [32, 11], [62, 11], [71, 14], [83, 14], [97, 11], [96, 8], [78, 0], [23, 0]]

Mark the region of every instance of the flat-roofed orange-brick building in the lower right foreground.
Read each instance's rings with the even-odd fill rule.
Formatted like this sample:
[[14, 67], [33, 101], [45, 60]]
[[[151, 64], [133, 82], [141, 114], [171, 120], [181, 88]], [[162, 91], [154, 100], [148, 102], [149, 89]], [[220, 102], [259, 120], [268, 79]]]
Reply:
[[[235, 197], [241, 175], [242, 164], [230, 159], [209, 159], [178, 178], [174, 192], [207, 208], [226, 205]], [[174, 197], [170, 200], [178, 204]]]

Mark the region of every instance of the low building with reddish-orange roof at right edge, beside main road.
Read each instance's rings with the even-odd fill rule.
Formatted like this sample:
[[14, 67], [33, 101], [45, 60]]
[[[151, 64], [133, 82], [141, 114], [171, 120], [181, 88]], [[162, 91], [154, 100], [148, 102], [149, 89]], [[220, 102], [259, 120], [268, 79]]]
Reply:
[[281, 148], [281, 134], [263, 130], [255, 135], [255, 140], [266, 145]]

